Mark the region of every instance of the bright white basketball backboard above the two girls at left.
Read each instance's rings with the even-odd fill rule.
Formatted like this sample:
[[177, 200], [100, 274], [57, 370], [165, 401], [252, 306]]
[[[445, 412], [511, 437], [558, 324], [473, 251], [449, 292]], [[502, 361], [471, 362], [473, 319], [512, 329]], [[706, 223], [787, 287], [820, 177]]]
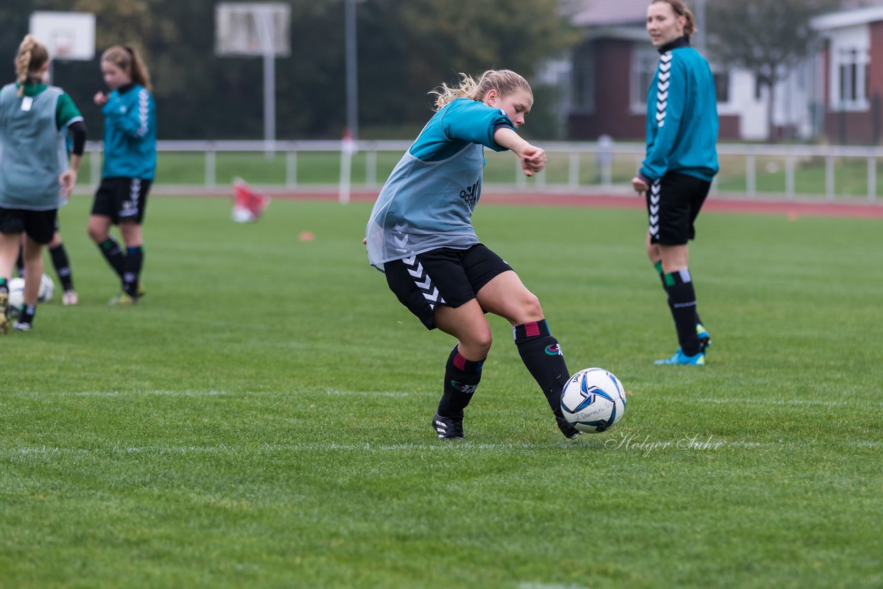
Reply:
[[29, 28], [52, 59], [89, 61], [95, 57], [95, 15], [91, 12], [32, 12]]

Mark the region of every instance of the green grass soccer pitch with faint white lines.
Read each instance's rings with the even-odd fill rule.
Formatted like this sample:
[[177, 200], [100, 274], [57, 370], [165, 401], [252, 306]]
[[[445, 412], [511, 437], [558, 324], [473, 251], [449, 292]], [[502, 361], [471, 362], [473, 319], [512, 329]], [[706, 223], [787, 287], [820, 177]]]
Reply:
[[[366, 264], [370, 206], [161, 198], [147, 296], [62, 211], [80, 304], [0, 336], [3, 587], [879, 587], [879, 220], [715, 215], [713, 334], [675, 350], [638, 210], [479, 207], [570, 370], [630, 391], [567, 441], [509, 325], [465, 421], [429, 421], [453, 344]], [[312, 241], [298, 236], [310, 231]]]

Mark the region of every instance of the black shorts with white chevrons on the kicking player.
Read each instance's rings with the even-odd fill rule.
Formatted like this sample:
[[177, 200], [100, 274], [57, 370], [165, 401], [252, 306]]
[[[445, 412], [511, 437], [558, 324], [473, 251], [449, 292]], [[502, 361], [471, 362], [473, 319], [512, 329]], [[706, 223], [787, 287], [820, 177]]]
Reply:
[[469, 249], [449, 247], [418, 253], [383, 264], [389, 290], [417, 315], [427, 329], [435, 328], [435, 307], [458, 307], [495, 276], [511, 270], [505, 261], [482, 244]]

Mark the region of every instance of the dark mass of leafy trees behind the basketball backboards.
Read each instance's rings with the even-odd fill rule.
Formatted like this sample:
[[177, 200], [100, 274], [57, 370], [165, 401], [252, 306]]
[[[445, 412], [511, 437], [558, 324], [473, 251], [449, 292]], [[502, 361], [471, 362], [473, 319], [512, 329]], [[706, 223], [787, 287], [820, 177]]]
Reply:
[[[92, 102], [102, 87], [99, 56], [123, 42], [144, 53], [162, 139], [260, 138], [261, 59], [215, 56], [217, 1], [0, 0], [0, 59], [11, 62], [32, 11], [92, 12], [94, 60], [54, 69], [55, 83], [83, 111], [90, 139], [102, 135]], [[346, 118], [344, 0], [284, 1], [291, 4], [291, 57], [275, 60], [276, 134], [339, 138]], [[431, 112], [427, 92], [457, 81], [457, 72], [509, 68], [533, 79], [544, 58], [575, 41], [559, 0], [366, 0], [357, 17], [363, 137], [419, 130]], [[11, 81], [12, 68], [7, 72]], [[543, 106], [538, 100], [534, 111]]]

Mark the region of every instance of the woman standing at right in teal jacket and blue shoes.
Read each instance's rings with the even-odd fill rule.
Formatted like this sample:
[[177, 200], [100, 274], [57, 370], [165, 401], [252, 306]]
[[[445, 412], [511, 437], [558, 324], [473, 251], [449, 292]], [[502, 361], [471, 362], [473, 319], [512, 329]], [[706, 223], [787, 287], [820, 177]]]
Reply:
[[644, 193], [649, 217], [647, 255], [662, 279], [680, 347], [656, 364], [702, 366], [711, 337], [699, 319], [687, 242], [718, 171], [714, 79], [690, 46], [696, 29], [681, 0], [653, 0], [647, 33], [660, 52], [647, 95], [647, 152], [631, 181]]

